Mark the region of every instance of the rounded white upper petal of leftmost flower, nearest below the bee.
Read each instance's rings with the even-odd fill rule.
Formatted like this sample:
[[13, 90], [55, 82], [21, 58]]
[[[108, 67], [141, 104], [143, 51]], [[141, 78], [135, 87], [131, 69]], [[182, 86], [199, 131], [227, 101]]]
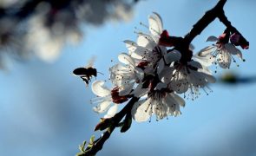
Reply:
[[107, 96], [108, 94], [110, 94], [110, 90], [104, 87], [103, 85], [104, 85], [104, 81], [94, 81], [92, 83], [93, 93], [101, 97]]

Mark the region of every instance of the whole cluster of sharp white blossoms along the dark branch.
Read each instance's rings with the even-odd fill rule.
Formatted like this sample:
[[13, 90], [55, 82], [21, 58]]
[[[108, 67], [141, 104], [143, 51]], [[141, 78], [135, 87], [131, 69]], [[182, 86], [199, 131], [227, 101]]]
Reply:
[[98, 96], [92, 101], [98, 103], [94, 110], [97, 113], [108, 111], [105, 118], [114, 116], [118, 105], [131, 97], [140, 99], [131, 109], [133, 119], [138, 122], [151, 119], [153, 114], [156, 120], [177, 116], [181, 114], [180, 107], [185, 106], [185, 98], [194, 100], [200, 90], [207, 94], [211, 91], [208, 84], [216, 80], [210, 65], [229, 68], [231, 60], [234, 61], [233, 55], [242, 59], [235, 46], [246, 49], [240, 43], [240, 35], [225, 31], [219, 38], [208, 37], [207, 42], [216, 43], [193, 55], [193, 46], [181, 48], [169, 40], [157, 13], [148, 17], [148, 23], [149, 32], [138, 32], [136, 42], [124, 41], [128, 53], [118, 55], [120, 63], [109, 68], [114, 87], [104, 87], [104, 81], [92, 84], [92, 90]]

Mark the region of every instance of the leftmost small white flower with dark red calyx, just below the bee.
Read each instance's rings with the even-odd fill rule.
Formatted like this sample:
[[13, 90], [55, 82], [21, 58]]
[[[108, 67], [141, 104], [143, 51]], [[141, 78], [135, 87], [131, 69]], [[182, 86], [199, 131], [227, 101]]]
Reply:
[[[120, 96], [118, 88], [111, 90], [103, 85], [104, 81], [94, 81], [92, 83], [92, 91], [97, 97], [91, 100], [91, 103], [98, 103], [98, 105], [93, 108], [96, 113], [102, 114], [108, 110], [104, 118], [110, 118], [116, 114], [118, 108], [117, 104], [128, 101], [128, 97]], [[113, 106], [111, 106], [112, 103], [114, 103]]]

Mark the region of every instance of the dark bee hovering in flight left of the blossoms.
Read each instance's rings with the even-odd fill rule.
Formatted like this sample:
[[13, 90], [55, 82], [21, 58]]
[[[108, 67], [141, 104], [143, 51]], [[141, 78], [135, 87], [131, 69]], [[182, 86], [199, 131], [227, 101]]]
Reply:
[[89, 85], [89, 82], [91, 81], [91, 78], [93, 76], [97, 77], [97, 69], [93, 68], [93, 63], [95, 62], [95, 56], [93, 56], [86, 67], [83, 68], [75, 68], [73, 71], [73, 75], [79, 76], [82, 81], [86, 83], [86, 86]]

